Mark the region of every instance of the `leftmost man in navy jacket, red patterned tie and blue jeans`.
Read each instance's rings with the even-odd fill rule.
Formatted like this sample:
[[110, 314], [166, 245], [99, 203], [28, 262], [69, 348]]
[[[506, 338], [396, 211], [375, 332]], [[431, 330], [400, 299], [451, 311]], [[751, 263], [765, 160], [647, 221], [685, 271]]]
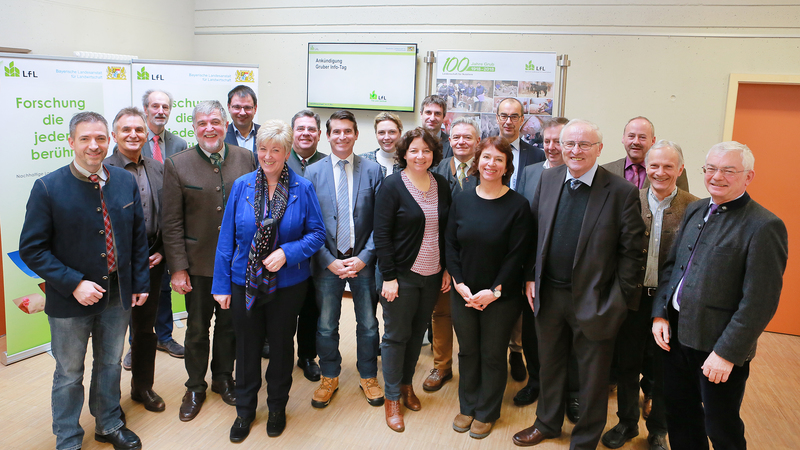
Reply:
[[57, 449], [80, 448], [84, 361], [92, 339], [89, 407], [95, 440], [115, 449], [142, 442], [120, 416], [120, 359], [131, 307], [147, 300], [147, 235], [139, 189], [123, 169], [103, 167], [108, 124], [95, 112], [69, 123], [72, 163], [34, 182], [19, 253], [47, 285]]

